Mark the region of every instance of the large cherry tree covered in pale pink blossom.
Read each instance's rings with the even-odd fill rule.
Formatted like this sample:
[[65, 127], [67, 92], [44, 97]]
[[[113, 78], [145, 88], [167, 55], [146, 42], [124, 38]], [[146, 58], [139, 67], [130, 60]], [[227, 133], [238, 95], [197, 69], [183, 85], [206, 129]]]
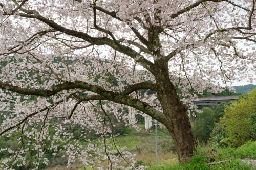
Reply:
[[[0, 108], [11, 110], [0, 135], [20, 132], [19, 148], [6, 149], [13, 154], [3, 161], [7, 169], [26, 163], [25, 137], [36, 141], [37, 165], [47, 162], [41, 146], [52, 140], [54, 151], [66, 143], [68, 164], [109, 160], [117, 168], [122, 159], [132, 167], [133, 155], [114, 142], [108, 121], [113, 114], [136, 127], [120, 112], [124, 105], [164, 125], [187, 162], [195, 145], [191, 98], [206, 87], [221, 91], [220, 83], [255, 80], [255, 0], [0, 2]], [[81, 146], [70, 133], [78, 124], [85, 138], [93, 130], [103, 143]]]

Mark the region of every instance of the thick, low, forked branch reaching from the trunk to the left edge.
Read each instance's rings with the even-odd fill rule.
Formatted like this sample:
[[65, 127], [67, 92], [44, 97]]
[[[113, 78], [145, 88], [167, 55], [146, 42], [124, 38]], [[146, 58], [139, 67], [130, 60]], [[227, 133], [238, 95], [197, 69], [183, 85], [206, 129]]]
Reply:
[[[38, 96], [52, 96], [62, 90], [84, 89], [84, 90], [88, 90], [88, 91], [94, 92], [96, 94], [99, 94], [104, 99], [111, 100], [115, 103], [120, 103], [120, 104], [134, 107], [137, 110], [140, 110], [140, 111], [146, 113], [147, 115], [159, 120], [159, 122], [161, 122], [161, 123], [164, 123], [167, 120], [167, 118], [165, 117], [165, 115], [163, 113], [156, 110], [155, 108], [153, 108], [146, 102], [142, 102], [138, 99], [134, 99], [131, 96], [128, 96], [133, 91], [136, 91], [136, 90], [142, 89], [142, 88], [157, 91], [157, 88], [154, 84], [147, 83], [147, 82], [142, 82], [142, 83], [138, 83], [135, 85], [131, 85], [129, 88], [127, 88], [126, 90], [124, 90], [121, 93], [107, 91], [107, 90], [103, 89], [101, 86], [91, 85], [91, 84], [88, 84], [88, 83], [82, 82], [82, 81], [65, 82], [62, 84], [58, 84], [55, 87], [53, 87], [52, 90], [26, 89], [26, 88], [20, 88], [18, 86], [13, 86], [13, 85], [3, 83], [3, 82], [0, 82], [0, 88], [10, 90], [13, 92], [17, 92], [19, 94], [38, 95]], [[93, 96], [91, 98], [94, 98], [95, 100], [102, 99], [99, 96]], [[47, 109], [47, 108], [45, 108], [45, 109]], [[37, 114], [37, 113], [35, 113], [35, 114]]]

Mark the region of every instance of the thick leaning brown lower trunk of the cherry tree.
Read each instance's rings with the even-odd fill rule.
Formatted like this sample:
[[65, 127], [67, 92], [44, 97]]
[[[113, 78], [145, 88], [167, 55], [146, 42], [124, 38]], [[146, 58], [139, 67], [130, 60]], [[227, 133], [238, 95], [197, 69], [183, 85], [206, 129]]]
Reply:
[[156, 79], [156, 83], [162, 89], [157, 95], [167, 117], [163, 124], [172, 134], [179, 161], [185, 163], [193, 155], [195, 144], [186, 106], [180, 101], [167, 71]]

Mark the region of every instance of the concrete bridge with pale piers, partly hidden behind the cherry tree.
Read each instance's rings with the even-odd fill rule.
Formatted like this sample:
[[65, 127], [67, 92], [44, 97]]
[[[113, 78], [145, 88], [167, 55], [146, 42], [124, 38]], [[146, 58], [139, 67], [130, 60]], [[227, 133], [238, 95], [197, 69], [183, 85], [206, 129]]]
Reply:
[[[238, 99], [239, 96], [221, 96], [221, 97], [210, 97], [210, 98], [197, 98], [193, 99], [192, 102], [196, 106], [218, 106], [221, 102], [230, 102]], [[128, 106], [129, 117], [131, 121], [135, 121], [135, 109]], [[149, 129], [152, 126], [152, 117], [145, 116], [145, 129]]]

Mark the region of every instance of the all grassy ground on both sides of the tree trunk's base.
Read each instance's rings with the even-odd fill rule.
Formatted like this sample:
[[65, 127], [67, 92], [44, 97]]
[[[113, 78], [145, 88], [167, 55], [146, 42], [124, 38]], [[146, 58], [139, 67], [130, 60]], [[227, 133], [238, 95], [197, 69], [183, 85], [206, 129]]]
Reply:
[[[117, 144], [126, 145], [127, 150], [136, 154], [136, 160], [139, 164], [147, 165], [148, 169], [252, 169], [251, 166], [240, 161], [241, 158], [256, 159], [256, 142], [248, 142], [240, 148], [218, 148], [214, 145], [203, 145], [198, 147], [196, 155], [187, 164], [180, 165], [177, 155], [170, 150], [173, 145], [172, 138], [168, 135], [166, 129], [158, 128], [158, 167], [155, 167], [155, 131], [147, 132], [143, 129], [144, 125], [139, 125], [141, 131], [137, 132], [131, 128], [130, 133], [116, 138]], [[218, 153], [211, 154], [211, 149], [216, 148]], [[224, 163], [208, 165], [209, 162], [218, 162], [230, 160]], [[108, 164], [107, 161], [101, 165]], [[79, 163], [72, 166], [72, 169], [91, 170], [88, 166], [84, 167]], [[68, 169], [65, 166], [51, 168], [51, 170]]]

